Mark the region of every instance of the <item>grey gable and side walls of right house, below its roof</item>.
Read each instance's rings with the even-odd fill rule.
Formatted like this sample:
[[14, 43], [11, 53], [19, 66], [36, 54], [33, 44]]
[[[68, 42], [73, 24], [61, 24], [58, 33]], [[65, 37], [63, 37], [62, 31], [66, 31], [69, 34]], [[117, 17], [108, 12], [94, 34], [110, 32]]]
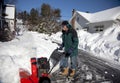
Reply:
[[102, 32], [105, 29], [111, 27], [115, 22], [117, 22], [117, 24], [120, 24], [120, 15], [118, 15], [117, 18], [114, 19], [114, 21], [103, 20], [99, 22], [90, 23], [85, 17], [81, 16], [79, 13], [76, 12], [71, 20], [71, 24], [75, 29], [84, 29], [90, 33]]

